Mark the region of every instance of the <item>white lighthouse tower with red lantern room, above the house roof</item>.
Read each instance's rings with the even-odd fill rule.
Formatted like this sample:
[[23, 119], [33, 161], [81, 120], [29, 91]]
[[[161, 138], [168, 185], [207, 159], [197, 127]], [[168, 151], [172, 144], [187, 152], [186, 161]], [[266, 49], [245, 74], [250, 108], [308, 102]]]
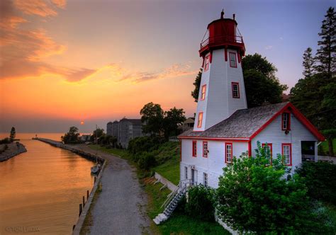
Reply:
[[201, 42], [203, 73], [198, 94], [194, 131], [204, 131], [247, 108], [241, 58], [245, 45], [235, 15], [208, 24], [208, 38]]

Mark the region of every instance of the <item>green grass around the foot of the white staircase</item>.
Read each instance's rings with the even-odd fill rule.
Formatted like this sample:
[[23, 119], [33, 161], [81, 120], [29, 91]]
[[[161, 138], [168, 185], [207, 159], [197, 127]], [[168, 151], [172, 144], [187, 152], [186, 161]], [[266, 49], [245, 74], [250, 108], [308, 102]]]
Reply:
[[[157, 214], [162, 213], [160, 208], [166, 200], [169, 190], [159, 190], [161, 183], [154, 185], [155, 180], [146, 178], [143, 180], [145, 191], [148, 195], [147, 214], [150, 219], [154, 219]], [[216, 222], [204, 222], [193, 217], [189, 217], [181, 212], [174, 212], [166, 222], [155, 226], [152, 223], [152, 229], [159, 234], [230, 234]]]

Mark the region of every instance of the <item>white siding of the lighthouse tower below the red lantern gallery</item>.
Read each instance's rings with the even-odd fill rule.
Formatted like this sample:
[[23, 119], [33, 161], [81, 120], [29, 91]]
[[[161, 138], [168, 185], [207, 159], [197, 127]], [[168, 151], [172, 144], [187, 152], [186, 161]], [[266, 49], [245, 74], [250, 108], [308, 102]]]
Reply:
[[[214, 50], [209, 69], [203, 71], [194, 125], [196, 131], [206, 130], [230, 117], [235, 110], [247, 108], [242, 64], [236, 58], [237, 68], [230, 67], [229, 52], [237, 55], [236, 50], [228, 50], [228, 61], [225, 62], [224, 49]], [[233, 98], [232, 82], [239, 84], [240, 98]], [[201, 101], [203, 85], [206, 85], [206, 98]], [[201, 127], [197, 127], [200, 112], [203, 112], [203, 122]]]

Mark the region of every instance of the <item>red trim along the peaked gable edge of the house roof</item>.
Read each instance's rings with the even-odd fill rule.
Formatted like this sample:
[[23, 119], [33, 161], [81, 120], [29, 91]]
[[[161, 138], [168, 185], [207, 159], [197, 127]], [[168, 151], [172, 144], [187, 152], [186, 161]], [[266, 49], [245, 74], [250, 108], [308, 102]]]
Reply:
[[325, 137], [323, 134], [321, 134], [316, 127], [297, 109], [292, 103], [287, 103], [284, 108], [281, 108], [273, 117], [271, 117], [267, 122], [265, 122], [262, 127], [260, 127], [256, 132], [254, 132], [250, 139], [253, 139], [257, 136], [262, 130], [264, 130], [276, 117], [278, 117], [281, 113], [283, 113], [285, 110], [290, 110], [291, 113], [293, 113], [294, 116], [319, 140], [324, 141]]

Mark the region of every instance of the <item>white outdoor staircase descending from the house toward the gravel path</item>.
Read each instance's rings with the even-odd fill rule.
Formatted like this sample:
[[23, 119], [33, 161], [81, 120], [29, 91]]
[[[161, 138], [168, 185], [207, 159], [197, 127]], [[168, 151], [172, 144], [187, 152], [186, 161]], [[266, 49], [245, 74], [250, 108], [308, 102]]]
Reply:
[[164, 207], [164, 211], [157, 215], [153, 219], [155, 224], [160, 224], [161, 222], [166, 221], [172, 215], [172, 212], [177, 207], [177, 204], [181, 198], [186, 194], [186, 189], [188, 188], [190, 182], [189, 180], [182, 180], [177, 185], [177, 190], [174, 190], [172, 193], [169, 193], [167, 199], [164, 201], [161, 207]]

